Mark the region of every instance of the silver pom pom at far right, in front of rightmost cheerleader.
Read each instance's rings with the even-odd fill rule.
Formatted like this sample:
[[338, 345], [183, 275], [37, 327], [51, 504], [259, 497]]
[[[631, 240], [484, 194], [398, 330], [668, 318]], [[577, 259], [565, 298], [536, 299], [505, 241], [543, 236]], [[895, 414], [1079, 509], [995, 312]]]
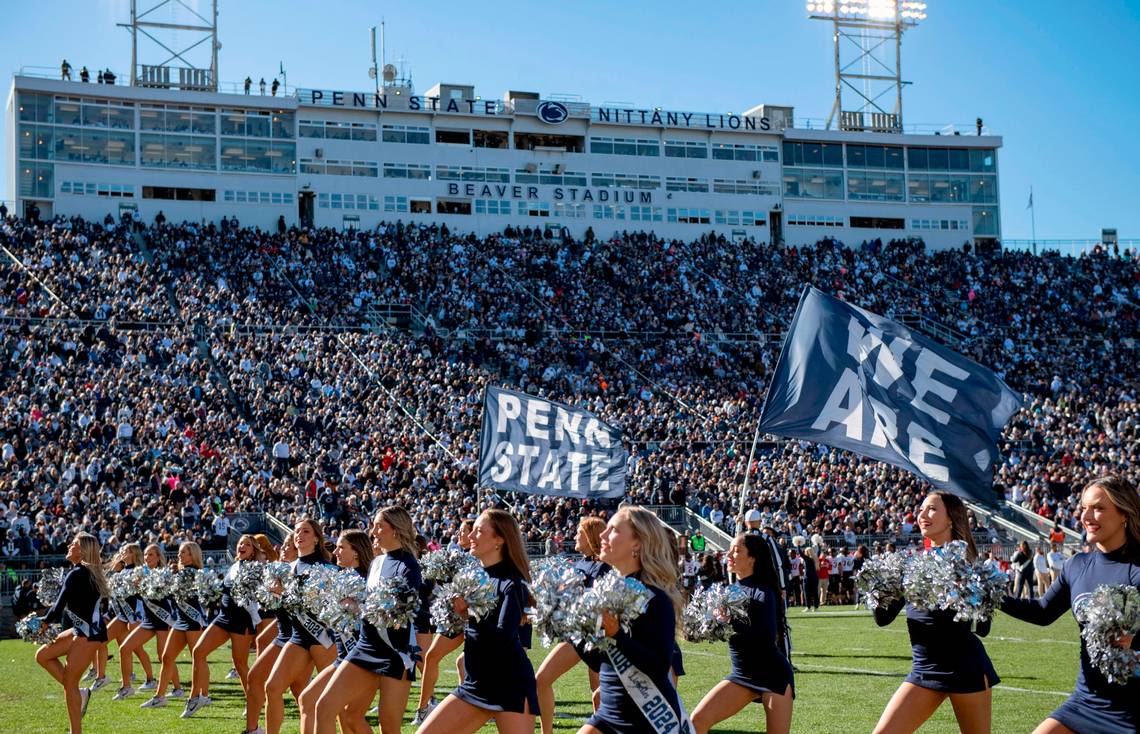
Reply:
[[1118, 637], [1140, 633], [1140, 589], [1098, 586], [1074, 612], [1089, 661], [1109, 683], [1125, 685], [1140, 675], [1140, 651], [1116, 645]]

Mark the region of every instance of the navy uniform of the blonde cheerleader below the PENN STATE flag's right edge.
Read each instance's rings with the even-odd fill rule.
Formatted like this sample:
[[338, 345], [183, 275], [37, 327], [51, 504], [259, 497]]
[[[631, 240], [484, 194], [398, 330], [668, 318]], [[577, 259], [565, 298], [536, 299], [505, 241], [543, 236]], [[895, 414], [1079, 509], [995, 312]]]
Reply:
[[[634, 574], [640, 580], [641, 574]], [[645, 612], [613, 636], [614, 646], [630, 663], [646, 675], [666, 698], [674, 713], [681, 717], [681, 699], [669, 679], [673, 650], [676, 645], [677, 618], [669, 595], [656, 586]], [[586, 724], [602, 734], [641, 734], [652, 731], [645, 715], [626, 691], [610, 656], [601, 651], [586, 653], [586, 662], [598, 671], [601, 704]]]

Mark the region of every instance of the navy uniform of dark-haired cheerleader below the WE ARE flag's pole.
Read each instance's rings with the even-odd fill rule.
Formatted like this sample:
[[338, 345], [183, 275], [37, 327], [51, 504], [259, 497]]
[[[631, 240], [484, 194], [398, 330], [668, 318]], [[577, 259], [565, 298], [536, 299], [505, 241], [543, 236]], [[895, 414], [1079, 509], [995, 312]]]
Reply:
[[[755, 576], [740, 579], [736, 586], [748, 594], [748, 619], [732, 620], [732, 636], [728, 637], [732, 670], [725, 680], [757, 693], [776, 695], [783, 695], [788, 686], [792, 686], [795, 696], [791, 663], [776, 646], [780, 595], [762, 586]], [[756, 702], [762, 703], [762, 698], [757, 696]]]

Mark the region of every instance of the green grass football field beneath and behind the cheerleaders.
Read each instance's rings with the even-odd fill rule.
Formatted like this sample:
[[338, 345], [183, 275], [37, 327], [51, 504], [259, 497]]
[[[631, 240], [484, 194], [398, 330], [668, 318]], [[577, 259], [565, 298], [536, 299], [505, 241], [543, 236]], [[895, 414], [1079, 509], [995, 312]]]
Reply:
[[[870, 732], [891, 693], [910, 670], [910, 644], [902, 617], [890, 627], [878, 628], [866, 612], [849, 607], [791, 614], [796, 674], [795, 732]], [[1002, 678], [993, 695], [993, 731], [996, 734], [1032, 732], [1072, 691], [1077, 669], [1077, 633], [1066, 615], [1052, 627], [1034, 627], [1002, 614], [997, 615], [985, 639], [994, 667]], [[727, 671], [723, 644], [683, 643], [687, 675], [681, 679], [681, 694], [691, 711], [701, 696]], [[112, 646], [114, 655], [114, 646]], [[534, 650], [537, 668], [545, 650]], [[67, 731], [67, 717], [60, 688], [35, 664], [34, 649], [19, 641], [0, 643], [0, 723], [7, 732], [60, 734]], [[153, 652], [152, 652], [153, 655]], [[84, 731], [99, 734], [213, 734], [241, 732], [244, 700], [236, 680], [226, 680], [228, 649], [212, 659], [214, 704], [195, 718], [178, 717], [181, 703], [171, 700], [163, 709], [139, 709], [146, 699], [138, 694], [125, 701], [112, 701], [112, 683], [96, 694]], [[440, 675], [441, 693], [456, 683], [454, 659], [448, 659]], [[112, 660], [109, 670], [117, 670]], [[181, 663], [184, 680], [189, 678], [189, 660]], [[589, 691], [584, 667], [567, 674], [556, 685], [559, 732], [575, 732], [589, 715]], [[413, 701], [418, 693], [413, 687]], [[298, 731], [296, 709], [287, 703], [283, 732]], [[410, 715], [405, 732], [413, 732]], [[372, 720], [375, 724], [375, 720]], [[487, 727], [484, 731], [494, 731]], [[760, 707], [752, 706], [735, 718], [723, 721], [715, 732], [763, 732]], [[921, 729], [956, 732], [953, 711], [946, 702]]]

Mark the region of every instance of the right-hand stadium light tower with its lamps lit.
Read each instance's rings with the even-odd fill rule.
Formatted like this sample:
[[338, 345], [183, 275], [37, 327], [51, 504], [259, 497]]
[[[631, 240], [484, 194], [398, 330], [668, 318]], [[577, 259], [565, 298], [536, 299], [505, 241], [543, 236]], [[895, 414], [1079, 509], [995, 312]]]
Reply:
[[[828, 129], [902, 132], [903, 33], [926, 19], [918, 0], [807, 0], [834, 27], [836, 101]], [[893, 99], [891, 99], [893, 98]], [[893, 105], [893, 106], [891, 106]]]

